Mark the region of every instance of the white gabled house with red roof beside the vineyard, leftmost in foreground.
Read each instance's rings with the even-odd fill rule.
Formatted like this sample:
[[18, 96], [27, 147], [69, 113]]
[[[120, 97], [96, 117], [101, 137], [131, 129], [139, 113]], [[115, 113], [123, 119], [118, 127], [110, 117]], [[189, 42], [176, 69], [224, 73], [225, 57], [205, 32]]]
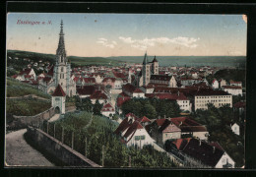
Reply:
[[143, 148], [146, 145], [153, 145], [155, 142], [134, 116], [126, 117], [114, 131], [114, 134], [120, 135], [122, 142], [127, 147]]

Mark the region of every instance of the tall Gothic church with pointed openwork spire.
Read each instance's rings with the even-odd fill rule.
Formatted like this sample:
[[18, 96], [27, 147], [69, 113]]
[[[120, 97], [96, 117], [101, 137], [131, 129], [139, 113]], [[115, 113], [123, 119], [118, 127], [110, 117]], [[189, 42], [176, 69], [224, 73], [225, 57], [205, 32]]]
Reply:
[[48, 82], [43, 80], [39, 83], [38, 89], [52, 93], [53, 90], [60, 85], [66, 95], [73, 96], [76, 94], [76, 83], [71, 79], [71, 65], [67, 61], [65, 50], [63, 21], [60, 24], [59, 43], [56, 50], [56, 63], [53, 68], [53, 76]]

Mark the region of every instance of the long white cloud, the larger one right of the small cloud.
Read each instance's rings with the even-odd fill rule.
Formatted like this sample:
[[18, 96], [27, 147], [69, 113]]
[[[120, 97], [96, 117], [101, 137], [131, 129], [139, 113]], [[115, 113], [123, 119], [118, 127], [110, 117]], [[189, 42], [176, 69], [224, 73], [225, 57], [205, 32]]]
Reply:
[[183, 37], [183, 36], [178, 36], [174, 38], [158, 37], [158, 38], [144, 38], [144, 39], [133, 39], [132, 37], [119, 36], [119, 39], [124, 43], [131, 44], [131, 47], [138, 48], [140, 50], [146, 50], [148, 47], [155, 46], [157, 43], [160, 43], [160, 44], [174, 43], [174, 44], [183, 45], [189, 48], [196, 48], [198, 46], [196, 42], [200, 40], [200, 38]]

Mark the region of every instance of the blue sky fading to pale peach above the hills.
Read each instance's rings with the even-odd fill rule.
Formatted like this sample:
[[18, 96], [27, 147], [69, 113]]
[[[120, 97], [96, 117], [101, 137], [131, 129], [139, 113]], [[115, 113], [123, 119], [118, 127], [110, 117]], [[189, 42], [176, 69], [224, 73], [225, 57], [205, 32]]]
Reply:
[[10, 13], [7, 49], [55, 54], [61, 20], [68, 56], [246, 55], [244, 15]]

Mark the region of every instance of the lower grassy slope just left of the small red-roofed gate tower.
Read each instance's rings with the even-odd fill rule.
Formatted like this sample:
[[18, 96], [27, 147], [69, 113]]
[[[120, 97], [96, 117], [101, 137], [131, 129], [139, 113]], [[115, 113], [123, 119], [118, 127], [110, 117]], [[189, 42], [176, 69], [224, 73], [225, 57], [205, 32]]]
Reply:
[[6, 99], [6, 113], [33, 116], [51, 107], [51, 102], [36, 98]]

